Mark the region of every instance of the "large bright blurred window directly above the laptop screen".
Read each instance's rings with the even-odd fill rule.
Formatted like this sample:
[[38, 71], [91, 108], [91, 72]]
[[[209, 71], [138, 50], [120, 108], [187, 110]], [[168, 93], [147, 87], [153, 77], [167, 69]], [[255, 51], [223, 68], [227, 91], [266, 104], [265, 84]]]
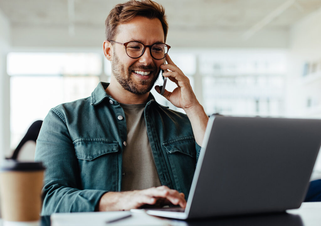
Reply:
[[206, 113], [284, 115], [286, 51], [216, 50], [199, 61]]

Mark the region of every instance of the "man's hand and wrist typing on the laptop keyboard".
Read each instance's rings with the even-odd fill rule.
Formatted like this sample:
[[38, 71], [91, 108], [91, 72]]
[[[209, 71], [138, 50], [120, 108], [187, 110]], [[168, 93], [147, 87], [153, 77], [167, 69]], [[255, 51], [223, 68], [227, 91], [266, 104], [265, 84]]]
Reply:
[[143, 205], [164, 206], [169, 204], [186, 207], [183, 193], [167, 186], [126, 192], [107, 192], [99, 201], [98, 211], [121, 211], [137, 209]]

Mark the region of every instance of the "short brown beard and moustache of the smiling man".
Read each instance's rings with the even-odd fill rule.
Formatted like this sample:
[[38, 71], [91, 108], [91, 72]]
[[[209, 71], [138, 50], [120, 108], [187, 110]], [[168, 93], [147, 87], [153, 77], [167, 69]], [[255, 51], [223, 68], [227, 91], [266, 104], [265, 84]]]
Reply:
[[[138, 82], [134, 81], [131, 77], [133, 70], [152, 70], [151, 77], [146, 80], [140, 80]], [[129, 66], [128, 70], [126, 70], [125, 66], [122, 65], [118, 56], [114, 53], [114, 58], [111, 64], [111, 71], [113, 76], [115, 76], [117, 82], [127, 91], [133, 94], [146, 94], [151, 91], [155, 82], [158, 79], [158, 74], [160, 73], [160, 68], [156, 68], [156, 66], [148, 65], [148, 66], [137, 66], [133, 67], [133, 65]]]

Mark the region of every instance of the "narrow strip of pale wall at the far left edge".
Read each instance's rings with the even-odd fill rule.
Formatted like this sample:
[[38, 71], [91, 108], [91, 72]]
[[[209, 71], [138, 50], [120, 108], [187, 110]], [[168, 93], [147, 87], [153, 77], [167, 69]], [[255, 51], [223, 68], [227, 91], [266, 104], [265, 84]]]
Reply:
[[10, 24], [0, 9], [0, 158], [10, 148], [9, 77], [6, 73], [6, 55], [10, 47]]

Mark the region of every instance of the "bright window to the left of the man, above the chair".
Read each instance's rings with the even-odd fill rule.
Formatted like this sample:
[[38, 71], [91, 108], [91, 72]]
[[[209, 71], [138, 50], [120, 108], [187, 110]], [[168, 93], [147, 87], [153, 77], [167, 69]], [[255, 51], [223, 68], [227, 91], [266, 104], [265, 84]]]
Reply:
[[96, 53], [9, 53], [11, 149], [52, 107], [88, 97], [102, 73]]

